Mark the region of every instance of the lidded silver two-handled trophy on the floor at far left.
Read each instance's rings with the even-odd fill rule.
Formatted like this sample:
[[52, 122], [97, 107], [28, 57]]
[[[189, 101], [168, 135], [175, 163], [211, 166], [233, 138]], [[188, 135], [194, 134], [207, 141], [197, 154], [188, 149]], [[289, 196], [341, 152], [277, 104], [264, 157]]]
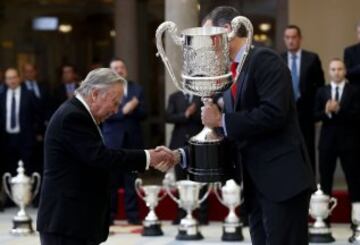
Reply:
[[[10, 199], [19, 206], [20, 210], [13, 218], [13, 228], [10, 233], [13, 235], [28, 235], [33, 233], [31, 217], [26, 213], [25, 207], [29, 205], [35, 198], [40, 188], [40, 175], [33, 173], [29, 178], [25, 175], [24, 163], [20, 160], [19, 167], [17, 168], [17, 175], [11, 177], [10, 173], [5, 173], [3, 176], [3, 185], [6, 194]], [[32, 186], [36, 181], [36, 187], [33, 193], [31, 193]], [[8, 187], [10, 185], [10, 189]]]

